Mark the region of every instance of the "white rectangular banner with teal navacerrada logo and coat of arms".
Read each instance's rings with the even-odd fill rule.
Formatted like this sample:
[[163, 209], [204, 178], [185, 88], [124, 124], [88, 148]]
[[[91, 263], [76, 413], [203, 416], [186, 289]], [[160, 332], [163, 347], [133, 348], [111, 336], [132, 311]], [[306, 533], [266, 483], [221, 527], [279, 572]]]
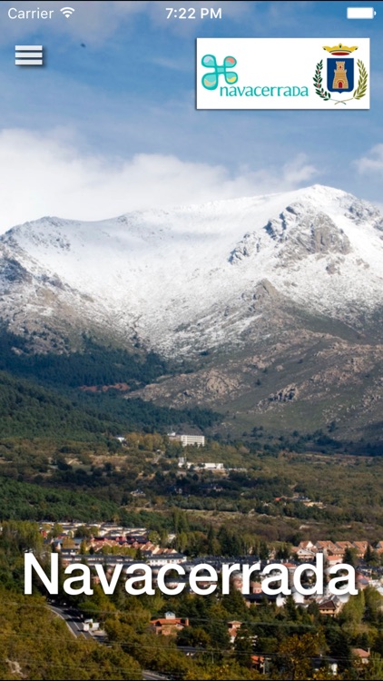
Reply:
[[197, 109], [369, 108], [368, 38], [197, 38], [196, 69]]

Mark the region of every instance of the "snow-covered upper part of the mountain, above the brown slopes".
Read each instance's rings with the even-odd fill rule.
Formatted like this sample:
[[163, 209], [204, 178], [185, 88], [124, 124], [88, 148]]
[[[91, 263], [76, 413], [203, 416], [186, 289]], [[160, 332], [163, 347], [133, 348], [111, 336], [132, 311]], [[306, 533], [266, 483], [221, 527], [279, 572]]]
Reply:
[[382, 304], [382, 262], [378, 209], [319, 185], [102, 222], [46, 217], [0, 238], [0, 317], [35, 337], [89, 330], [192, 356], [264, 337], [277, 310], [361, 329]]

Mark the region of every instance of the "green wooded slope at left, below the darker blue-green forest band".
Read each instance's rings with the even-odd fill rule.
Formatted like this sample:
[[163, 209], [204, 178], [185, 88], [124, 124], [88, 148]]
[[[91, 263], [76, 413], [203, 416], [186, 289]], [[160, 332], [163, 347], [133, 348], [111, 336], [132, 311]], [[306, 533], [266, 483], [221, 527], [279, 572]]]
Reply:
[[121, 429], [162, 429], [180, 423], [204, 428], [218, 415], [211, 410], [174, 410], [120, 395], [75, 393], [45, 388], [0, 371], [0, 431], [3, 437], [54, 436], [98, 439]]

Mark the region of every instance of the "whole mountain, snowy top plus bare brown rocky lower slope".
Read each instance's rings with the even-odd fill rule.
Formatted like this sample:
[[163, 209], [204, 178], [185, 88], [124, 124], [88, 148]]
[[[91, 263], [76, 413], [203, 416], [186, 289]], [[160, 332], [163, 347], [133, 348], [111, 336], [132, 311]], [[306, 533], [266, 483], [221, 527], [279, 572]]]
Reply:
[[0, 238], [0, 316], [37, 351], [73, 349], [88, 331], [191, 364], [146, 399], [243, 423], [309, 412], [373, 429], [382, 262], [378, 209], [319, 185], [103, 222], [43, 218]]

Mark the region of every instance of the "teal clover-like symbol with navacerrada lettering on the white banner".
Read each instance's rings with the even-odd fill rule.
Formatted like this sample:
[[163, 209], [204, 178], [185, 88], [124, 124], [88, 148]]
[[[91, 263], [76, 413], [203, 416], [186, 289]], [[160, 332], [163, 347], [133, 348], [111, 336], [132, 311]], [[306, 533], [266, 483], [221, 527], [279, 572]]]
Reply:
[[205, 54], [201, 59], [202, 66], [213, 68], [210, 74], [202, 76], [202, 85], [207, 90], [216, 90], [219, 84], [220, 75], [224, 76], [227, 84], [220, 88], [220, 97], [308, 97], [309, 88], [306, 85], [234, 85], [238, 81], [238, 74], [235, 71], [228, 71], [228, 68], [235, 66], [235, 57], [227, 56], [223, 60], [223, 65], [218, 66], [214, 54]]

